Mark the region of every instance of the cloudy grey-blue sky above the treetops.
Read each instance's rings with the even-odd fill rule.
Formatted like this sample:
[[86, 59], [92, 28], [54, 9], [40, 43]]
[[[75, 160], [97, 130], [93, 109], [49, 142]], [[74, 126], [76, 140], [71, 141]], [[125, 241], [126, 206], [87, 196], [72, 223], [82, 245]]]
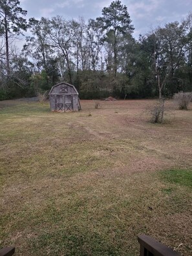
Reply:
[[[63, 16], [65, 19], [84, 17], [95, 19], [101, 16], [109, 0], [20, 0], [21, 7], [28, 11], [27, 17]], [[145, 34], [151, 28], [171, 21], [181, 21], [192, 10], [192, 0], [122, 0], [132, 19], [134, 37]]]

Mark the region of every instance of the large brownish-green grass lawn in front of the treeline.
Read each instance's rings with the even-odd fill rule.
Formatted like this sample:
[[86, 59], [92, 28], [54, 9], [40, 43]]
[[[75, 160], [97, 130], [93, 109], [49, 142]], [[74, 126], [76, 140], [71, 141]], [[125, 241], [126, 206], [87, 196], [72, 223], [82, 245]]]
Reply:
[[82, 111], [0, 101], [1, 247], [16, 255], [138, 255], [138, 234], [192, 255], [192, 106], [147, 122], [153, 100]]

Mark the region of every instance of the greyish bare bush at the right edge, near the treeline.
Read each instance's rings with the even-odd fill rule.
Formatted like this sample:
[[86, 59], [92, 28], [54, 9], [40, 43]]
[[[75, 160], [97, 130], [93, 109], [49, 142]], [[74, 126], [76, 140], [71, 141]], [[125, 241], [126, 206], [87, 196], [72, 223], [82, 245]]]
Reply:
[[192, 92], [178, 92], [174, 94], [173, 99], [179, 109], [187, 110], [189, 103], [192, 100]]

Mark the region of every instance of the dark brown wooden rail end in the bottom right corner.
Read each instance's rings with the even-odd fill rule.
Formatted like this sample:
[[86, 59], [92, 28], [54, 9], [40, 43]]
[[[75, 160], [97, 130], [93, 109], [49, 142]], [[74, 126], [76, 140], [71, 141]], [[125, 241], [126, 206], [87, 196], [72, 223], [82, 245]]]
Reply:
[[138, 235], [138, 242], [140, 243], [140, 256], [180, 256], [148, 235]]

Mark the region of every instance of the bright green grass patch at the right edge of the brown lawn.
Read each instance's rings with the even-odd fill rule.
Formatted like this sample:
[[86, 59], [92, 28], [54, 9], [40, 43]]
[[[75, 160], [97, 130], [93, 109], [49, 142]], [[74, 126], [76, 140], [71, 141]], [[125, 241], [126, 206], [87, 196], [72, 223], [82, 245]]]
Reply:
[[192, 188], [192, 170], [190, 169], [171, 169], [162, 171], [160, 176], [166, 182]]

